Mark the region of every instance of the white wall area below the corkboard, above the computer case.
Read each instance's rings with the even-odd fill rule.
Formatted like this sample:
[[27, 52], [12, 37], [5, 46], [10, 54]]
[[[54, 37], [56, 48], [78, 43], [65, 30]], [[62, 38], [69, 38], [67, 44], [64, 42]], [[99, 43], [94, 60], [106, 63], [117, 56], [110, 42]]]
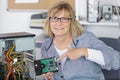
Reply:
[[39, 12], [7, 11], [7, 1], [0, 0], [0, 33], [26, 31], [38, 35], [42, 32], [40, 29], [29, 27], [31, 15]]

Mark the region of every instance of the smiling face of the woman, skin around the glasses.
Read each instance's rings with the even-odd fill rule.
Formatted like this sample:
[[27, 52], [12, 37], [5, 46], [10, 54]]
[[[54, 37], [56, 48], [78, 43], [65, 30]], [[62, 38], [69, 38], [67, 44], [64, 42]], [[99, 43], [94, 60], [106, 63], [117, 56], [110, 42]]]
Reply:
[[53, 32], [54, 36], [66, 36], [70, 34], [70, 23], [71, 20], [67, 22], [62, 22], [60, 18], [70, 18], [67, 11], [64, 9], [57, 12], [54, 16], [58, 18], [58, 21], [50, 21], [50, 29]]

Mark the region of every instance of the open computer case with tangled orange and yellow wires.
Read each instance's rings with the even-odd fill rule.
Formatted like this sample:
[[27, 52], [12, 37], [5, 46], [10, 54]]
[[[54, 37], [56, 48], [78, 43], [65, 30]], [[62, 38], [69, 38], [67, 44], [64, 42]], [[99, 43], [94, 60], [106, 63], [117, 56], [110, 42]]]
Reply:
[[34, 37], [35, 34], [27, 32], [0, 34], [0, 80], [35, 79], [35, 72], [32, 72]]

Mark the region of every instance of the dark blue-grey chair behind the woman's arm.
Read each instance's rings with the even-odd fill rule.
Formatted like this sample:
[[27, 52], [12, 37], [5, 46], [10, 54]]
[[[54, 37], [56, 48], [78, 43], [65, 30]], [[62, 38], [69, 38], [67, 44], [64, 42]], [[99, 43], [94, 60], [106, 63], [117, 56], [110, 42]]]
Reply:
[[[113, 49], [120, 52], [120, 38], [105, 38], [100, 37], [100, 40], [105, 42], [108, 46], [111, 46]], [[105, 76], [105, 80], [120, 80], [120, 69], [119, 70], [102, 70]]]

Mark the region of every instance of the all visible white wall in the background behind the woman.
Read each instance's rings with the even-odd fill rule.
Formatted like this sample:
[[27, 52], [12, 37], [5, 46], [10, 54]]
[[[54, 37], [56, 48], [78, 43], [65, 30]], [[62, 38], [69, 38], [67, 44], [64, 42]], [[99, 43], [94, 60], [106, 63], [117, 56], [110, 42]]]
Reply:
[[[112, 0], [100, 0], [102, 3], [111, 3]], [[86, 17], [87, 0], [76, 0], [76, 16]], [[113, 3], [113, 2], [112, 2]], [[40, 29], [31, 29], [29, 27], [30, 17], [32, 14], [39, 12], [34, 11], [7, 11], [7, 0], [0, 0], [0, 33], [26, 31], [42, 34]], [[97, 36], [115, 37], [120, 36], [120, 27], [115, 26], [89, 26], [87, 28]]]

